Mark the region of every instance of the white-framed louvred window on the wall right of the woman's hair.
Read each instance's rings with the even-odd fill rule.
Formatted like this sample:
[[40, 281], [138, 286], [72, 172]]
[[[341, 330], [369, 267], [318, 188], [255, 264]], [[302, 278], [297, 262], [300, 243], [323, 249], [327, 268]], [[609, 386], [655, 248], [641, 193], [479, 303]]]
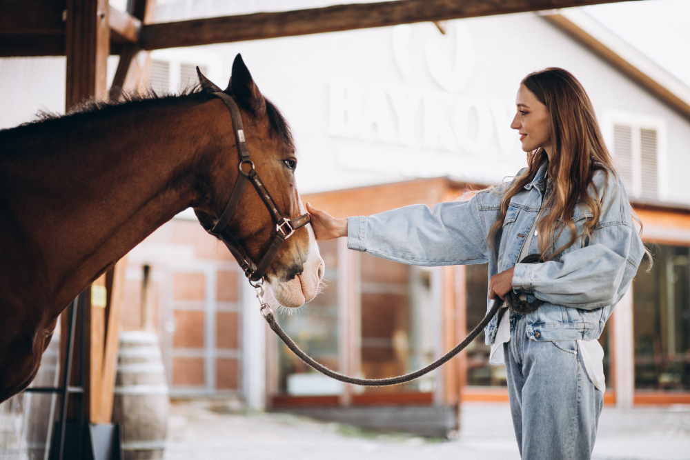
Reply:
[[629, 197], [663, 199], [665, 124], [634, 114], [611, 117], [609, 148]]

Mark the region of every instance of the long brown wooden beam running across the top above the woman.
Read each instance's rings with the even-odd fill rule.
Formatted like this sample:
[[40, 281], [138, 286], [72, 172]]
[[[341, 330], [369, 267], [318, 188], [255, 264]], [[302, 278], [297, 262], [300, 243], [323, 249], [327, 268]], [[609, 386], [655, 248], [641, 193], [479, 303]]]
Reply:
[[404, 23], [552, 10], [617, 1], [623, 0], [398, 0], [357, 3], [310, 10], [146, 24], [141, 28], [139, 40], [144, 50], [157, 50], [178, 46], [395, 26]]

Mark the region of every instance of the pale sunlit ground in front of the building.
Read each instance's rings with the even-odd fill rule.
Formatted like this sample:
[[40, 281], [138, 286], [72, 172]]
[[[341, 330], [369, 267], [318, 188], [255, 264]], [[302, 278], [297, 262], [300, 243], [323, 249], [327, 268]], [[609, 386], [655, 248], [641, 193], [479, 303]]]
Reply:
[[[509, 408], [462, 407], [457, 439], [365, 432], [290, 414], [247, 413], [223, 401], [172, 406], [166, 460], [516, 460]], [[690, 459], [690, 406], [605, 407], [593, 459]]]

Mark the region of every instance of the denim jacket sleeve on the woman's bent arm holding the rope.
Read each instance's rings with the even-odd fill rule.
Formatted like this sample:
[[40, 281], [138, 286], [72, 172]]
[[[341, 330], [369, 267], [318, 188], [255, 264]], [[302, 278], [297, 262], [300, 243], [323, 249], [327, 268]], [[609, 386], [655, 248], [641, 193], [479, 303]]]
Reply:
[[[595, 183], [600, 179], [602, 185], [603, 175], [595, 174]], [[633, 225], [622, 183], [613, 174], [608, 182], [603, 212], [590, 241], [581, 248], [566, 250], [558, 260], [516, 263], [515, 291], [585, 310], [618, 303], [638, 270], [644, 246]]]

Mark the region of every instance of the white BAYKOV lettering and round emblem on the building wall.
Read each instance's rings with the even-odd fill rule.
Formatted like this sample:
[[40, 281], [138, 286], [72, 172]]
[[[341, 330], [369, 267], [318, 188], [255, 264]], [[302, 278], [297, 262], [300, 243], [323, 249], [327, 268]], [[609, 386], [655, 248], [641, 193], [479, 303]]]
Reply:
[[[465, 23], [449, 22], [445, 35], [431, 23], [396, 26], [391, 48], [404, 83], [331, 80], [329, 134], [415, 152], [432, 149], [440, 160], [450, 160], [453, 152], [465, 158], [513, 157], [516, 138], [506, 129], [514, 112], [511, 103], [466, 90], [474, 74], [475, 46]], [[448, 174], [446, 163], [443, 171], [416, 170], [413, 175]]]

